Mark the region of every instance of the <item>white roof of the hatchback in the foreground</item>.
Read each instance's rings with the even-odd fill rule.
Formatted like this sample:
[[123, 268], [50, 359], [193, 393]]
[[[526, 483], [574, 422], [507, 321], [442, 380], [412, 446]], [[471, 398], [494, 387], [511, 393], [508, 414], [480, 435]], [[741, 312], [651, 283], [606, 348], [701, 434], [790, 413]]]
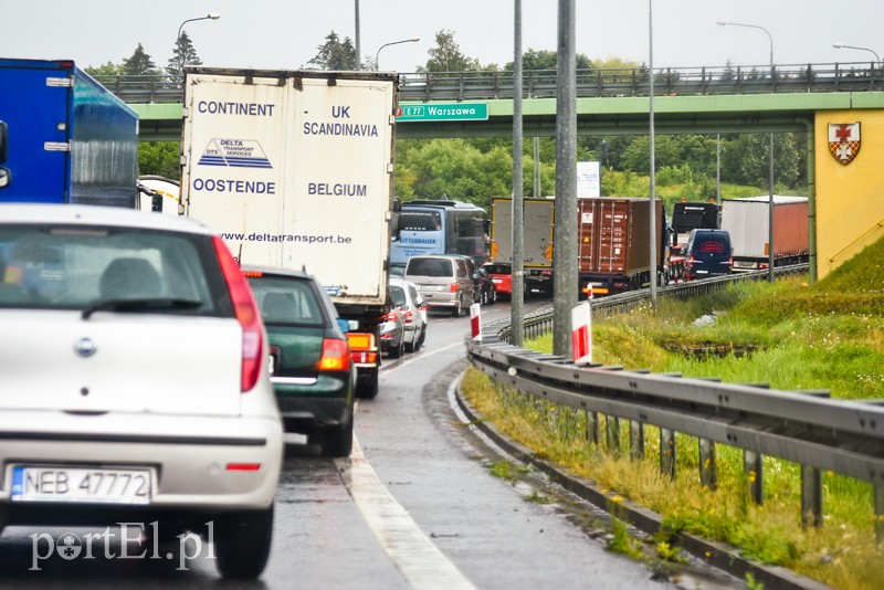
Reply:
[[202, 234], [214, 233], [208, 225], [192, 218], [93, 204], [0, 203], [0, 219], [4, 223], [97, 224]]

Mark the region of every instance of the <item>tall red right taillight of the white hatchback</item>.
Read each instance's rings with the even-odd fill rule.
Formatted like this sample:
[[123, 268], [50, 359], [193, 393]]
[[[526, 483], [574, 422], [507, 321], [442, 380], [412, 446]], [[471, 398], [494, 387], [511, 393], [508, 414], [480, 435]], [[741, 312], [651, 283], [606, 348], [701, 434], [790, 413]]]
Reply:
[[240, 265], [224, 245], [224, 241], [215, 235], [212, 238], [221, 272], [230, 291], [230, 301], [233, 303], [233, 313], [242, 326], [242, 377], [241, 391], [251, 390], [261, 376], [261, 365], [264, 362], [264, 338], [261, 326], [261, 313], [249, 287], [249, 282], [242, 275]]

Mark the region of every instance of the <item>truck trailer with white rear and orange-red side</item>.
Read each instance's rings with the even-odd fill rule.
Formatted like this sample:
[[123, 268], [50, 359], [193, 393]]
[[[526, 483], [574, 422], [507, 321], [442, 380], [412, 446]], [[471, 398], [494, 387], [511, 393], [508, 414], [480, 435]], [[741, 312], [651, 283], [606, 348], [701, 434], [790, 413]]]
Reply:
[[[734, 272], [770, 267], [770, 197], [747, 197], [722, 201], [722, 230], [730, 234]], [[774, 266], [808, 262], [808, 200], [806, 197], [774, 196]]]

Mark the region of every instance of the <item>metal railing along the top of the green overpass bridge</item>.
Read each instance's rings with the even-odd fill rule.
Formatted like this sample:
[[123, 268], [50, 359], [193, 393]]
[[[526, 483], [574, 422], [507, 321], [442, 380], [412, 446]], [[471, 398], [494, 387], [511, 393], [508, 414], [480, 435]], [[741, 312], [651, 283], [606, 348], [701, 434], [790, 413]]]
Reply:
[[[182, 103], [180, 76], [95, 76], [126, 103]], [[490, 101], [515, 96], [512, 71], [400, 73], [400, 101]], [[578, 97], [649, 96], [648, 67], [577, 70]], [[556, 96], [555, 70], [523, 73], [523, 96]], [[884, 91], [884, 67], [874, 62], [654, 69], [655, 96]]]

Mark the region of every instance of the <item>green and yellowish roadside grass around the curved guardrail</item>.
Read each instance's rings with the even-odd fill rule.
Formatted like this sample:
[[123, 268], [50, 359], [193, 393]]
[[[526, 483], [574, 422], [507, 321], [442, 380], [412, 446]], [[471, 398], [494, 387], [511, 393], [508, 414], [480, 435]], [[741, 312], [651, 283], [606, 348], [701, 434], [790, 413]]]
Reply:
[[[769, 383], [779, 390], [824, 389], [841, 399], [884, 399], [883, 257], [884, 241], [815, 285], [808, 285], [807, 278], [745, 283], [685, 302], [662, 298], [656, 310], [645, 305], [597, 320], [593, 360], [726, 382]], [[694, 325], [712, 313], [714, 324]], [[551, 352], [551, 341], [547, 336], [527, 346]], [[754, 351], [741, 357], [694, 354], [711, 346]], [[685, 530], [724, 540], [748, 557], [840, 589], [884, 588], [884, 549], [875, 544], [871, 484], [825, 473], [823, 526], [803, 529], [796, 464], [764, 459], [765, 503], [756, 506], [748, 497], [739, 449], [716, 445], [718, 485], [709, 491], [698, 483], [694, 438], [676, 436], [678, 474], [675, 481], [664, 481], [659, 432], [652, 426], [645, 428], [645, 459], [629, 460], [600, 453], [586, 442], [582, 412], [496, 387], [475, 370], [469, 371], [463, 390], [502, 431], [601, 488], [659, 512], [673, 534]], [[625, 425], [620, 436], [620, 447], [628, 449]], [[628, 550], [621, 545], [618, 550]], [[666, 545], [665, 550], [672, 548]]]

